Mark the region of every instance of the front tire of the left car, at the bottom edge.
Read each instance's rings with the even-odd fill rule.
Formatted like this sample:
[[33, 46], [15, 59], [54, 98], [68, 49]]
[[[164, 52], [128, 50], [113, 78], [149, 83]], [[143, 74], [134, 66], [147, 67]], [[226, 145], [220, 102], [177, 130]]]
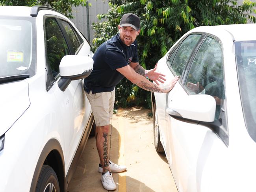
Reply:
[[60, 192], [58, 177], [50, 166], [43, 165], [37, 180], [35, 191]]

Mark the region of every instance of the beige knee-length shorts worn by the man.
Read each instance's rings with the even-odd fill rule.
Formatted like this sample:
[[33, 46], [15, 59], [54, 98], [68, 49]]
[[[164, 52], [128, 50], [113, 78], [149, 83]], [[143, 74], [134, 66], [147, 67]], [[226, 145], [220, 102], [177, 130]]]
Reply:
[[115, 89], [111, 92], [101, 92], [89, 94], [85, 92], [93, 111], [95, 124], [97, 127], [106, 126], [110, 124], [110, 118], [113, 116], [113, 109], [115, 103]]

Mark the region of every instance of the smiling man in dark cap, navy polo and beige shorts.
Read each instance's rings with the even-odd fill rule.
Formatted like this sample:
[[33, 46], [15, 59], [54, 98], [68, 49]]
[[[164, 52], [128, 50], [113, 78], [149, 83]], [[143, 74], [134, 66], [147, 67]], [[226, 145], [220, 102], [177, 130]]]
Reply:
[[[102, 185], [107, 190], [115, 190], [112, 172], [122, 172], [125, 166], [119, 166], [108, 159], [109, 120], [113, 114], [115, 85], [125, 76], [137, 86], [153, 92], [169, 92], [178, 81], [175, 77], [168, 86], [163, 83], [163, 74], [156, 67], [145, 70], [138, 63], [137, 35], [140, 32], [140, 19], [132, 13], [124, 14], [118, 26], [119, 33], [104, 42], [93, 56], [93, 71], [85, 78], [84, 89], [91, 103], [96, 124], [96, 146], [100, 157], [99, 172], [102, 172]], [[147, 78], [156, 82], [150, 82]]]

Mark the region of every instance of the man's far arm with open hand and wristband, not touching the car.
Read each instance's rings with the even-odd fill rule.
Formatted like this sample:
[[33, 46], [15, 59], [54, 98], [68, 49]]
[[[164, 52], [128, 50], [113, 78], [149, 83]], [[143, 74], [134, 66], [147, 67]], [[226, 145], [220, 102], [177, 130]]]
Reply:
[[137, 74], [140, 74], [143, 77], [148, 77], [152, 81], [155, 81], [155, 83], [157, 85], [159, 85], [158, 81], [161, 83], [164, 83], [164, 81], [166, 80], [165, 78], [163, 78], [165, 76], [164, 74], [156, 72], [156, 66], [155, 66], [155, 68], [150, 69], [150, 70], [144, 69], [141, 65], [139, 65], [139, 63], [131, 62], [130, 66], [134, 69], [134, 71]]

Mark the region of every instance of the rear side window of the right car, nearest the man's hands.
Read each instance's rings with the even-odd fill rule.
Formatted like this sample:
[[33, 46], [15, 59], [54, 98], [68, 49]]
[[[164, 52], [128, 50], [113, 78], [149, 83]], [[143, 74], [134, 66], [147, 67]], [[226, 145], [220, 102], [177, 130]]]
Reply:
[[[200, 37], [201, 35], [199, 34], [189, 35], [182, 42], [182, 44], [178, 48], [178, 51], [177, 52], [174, 51], [173, 53], [173, 55], [175, 54], [174, 59], [173, 59], [173, 55], [171, 55], [169, 61], [167, 61], [168, 63], [172, 63], [171, 68], [176, 73], [176, 75], [178, 76], [182, 75], [184, 67], [186, 66], [187, 61], [189, 60], [189, 56], [191, 55], [191, 52], [197, 45]], [[173, 61], [171, 61], [171, 59], [173, 59]]]

